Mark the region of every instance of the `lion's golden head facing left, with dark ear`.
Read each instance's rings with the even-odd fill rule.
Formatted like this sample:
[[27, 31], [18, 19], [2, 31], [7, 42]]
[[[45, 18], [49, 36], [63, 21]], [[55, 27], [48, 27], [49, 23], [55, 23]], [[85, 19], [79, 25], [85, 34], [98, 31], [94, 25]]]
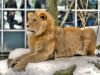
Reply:
[[43, 10], [38, 10], [34, 13], [28, 12], [27, 30], [29, 32], [37, 36], [48, 29], [54, 29], [54, 19], [50, 14]]

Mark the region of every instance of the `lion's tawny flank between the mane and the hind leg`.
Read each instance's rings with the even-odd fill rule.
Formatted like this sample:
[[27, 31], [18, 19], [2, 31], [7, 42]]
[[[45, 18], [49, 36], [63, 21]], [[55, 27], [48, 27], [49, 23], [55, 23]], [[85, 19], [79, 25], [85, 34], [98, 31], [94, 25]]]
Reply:
[[71, 56], [81, 46], [81, 30], [73, 27], [56, 28], [56, 57]]

